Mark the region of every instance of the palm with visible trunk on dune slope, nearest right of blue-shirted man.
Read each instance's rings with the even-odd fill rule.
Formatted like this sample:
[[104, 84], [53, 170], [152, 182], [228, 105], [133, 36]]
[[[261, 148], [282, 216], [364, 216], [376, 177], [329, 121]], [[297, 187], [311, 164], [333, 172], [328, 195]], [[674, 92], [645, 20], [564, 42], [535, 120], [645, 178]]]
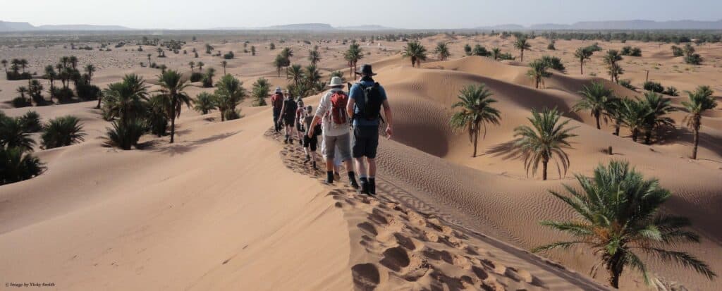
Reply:
[[454, 113], [449, 120], [449, 124], [453, 129], [468, 131], [469, 142], [474, 143], [474, 154], [471, 157], [477, 157], [477, 144], [479, 142], [479, 133], [484, 128], [484, 137], [487, 134], [487, 123], [499, 125], [500, 112], [492, 107], [492, 103], [497, 101], [491, 98], [490, 92], [485, 84], [475, 86], [473, 84], [464, 87], [459, 92], [458, 101], [452, 108], [461, 108], [461, 112]]

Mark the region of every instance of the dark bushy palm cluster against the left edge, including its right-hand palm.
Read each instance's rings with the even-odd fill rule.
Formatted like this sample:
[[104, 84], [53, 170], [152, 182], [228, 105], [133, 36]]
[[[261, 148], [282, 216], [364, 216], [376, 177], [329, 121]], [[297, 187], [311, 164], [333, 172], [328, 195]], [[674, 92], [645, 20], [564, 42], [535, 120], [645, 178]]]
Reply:
[[45, 166], [32, 155], [35, 140], [30, 136], [36, 132], [40, 132], [41, 149], [76, 144], [85, 136], [74, 116], [61, 116], [42, 124], [35, 111], [17, 118], [0, 111], [0, 185], [27, 180], [43, 172]]

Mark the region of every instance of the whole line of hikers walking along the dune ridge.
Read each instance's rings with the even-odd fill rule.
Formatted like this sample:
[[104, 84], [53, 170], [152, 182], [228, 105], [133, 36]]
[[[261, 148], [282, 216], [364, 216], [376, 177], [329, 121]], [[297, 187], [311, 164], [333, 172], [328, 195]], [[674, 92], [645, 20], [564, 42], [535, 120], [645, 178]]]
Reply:
[[[331, 82], [326, 84], [330, 90], [321, 97], [315, 113], [311, 105], [304, 106], [301, 97], [294, 100], [287, 91], [277, 87], [271, 96], [274, 130], [284, 132], [285, 144], [293, 144], [296, 138], [306, 155], [304, 163], [311, 162], [314, 170], [318, 136], [321, 136], [326, 183], [340, 180], [339, 168], [343, 163], [349, 185], [362, 194], [375, 195], [378, 127], [384, 121], [381, 108], [386, 116], [386, 136], [389, 139], [393, 134], [393, 117], [386, 91], [374, 81], [371, 65], [361, 66], [357, 74], [361, 78], [356, 84], [349, 84], [348, 93], [344, 92], [340, 77], [331, 78]], [[359, 174], [358, 183], [356, 173]]]

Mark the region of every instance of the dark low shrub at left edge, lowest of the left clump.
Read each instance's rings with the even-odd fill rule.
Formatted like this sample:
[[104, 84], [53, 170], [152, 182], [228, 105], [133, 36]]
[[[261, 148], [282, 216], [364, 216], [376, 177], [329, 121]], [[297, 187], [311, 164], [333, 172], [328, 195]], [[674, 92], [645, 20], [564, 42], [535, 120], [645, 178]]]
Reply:
[[0, 185], [33, 178], [45, 167], [38, 157], [17, 147], [0, 147]]

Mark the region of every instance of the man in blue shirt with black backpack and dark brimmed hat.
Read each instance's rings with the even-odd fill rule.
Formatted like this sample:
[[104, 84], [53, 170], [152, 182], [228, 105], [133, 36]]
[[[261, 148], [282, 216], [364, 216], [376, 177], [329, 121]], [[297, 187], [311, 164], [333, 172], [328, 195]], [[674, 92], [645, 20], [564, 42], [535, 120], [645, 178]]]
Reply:
[[[393, 116], [388, 105], [386, 90], [373, 80], [370, 64], [361, 66], [359, 82], [349, 90], [349, 103], [346, 110], [353, 118], [352, 157], [356, 160], [360, 175], [362, 194], [376, 194], [376, 149], [378, 149], [378, 126], [381, 121], [381, 107], [386, 116], [386, 138], [393, 134]], [[368, 168], [366, 168], [366, 163]]]

